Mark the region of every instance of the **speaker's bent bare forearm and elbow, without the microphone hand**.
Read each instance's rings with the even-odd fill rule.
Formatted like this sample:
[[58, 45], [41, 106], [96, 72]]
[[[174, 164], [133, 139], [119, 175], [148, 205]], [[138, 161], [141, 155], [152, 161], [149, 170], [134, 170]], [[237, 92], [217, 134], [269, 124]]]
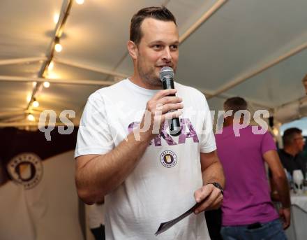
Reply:
[[76, 158], [77, 192], [87, 204], [99, 202], [117, 188], [133, 171], [150, 141], [143, 138], [136, 141], [133, 133], [128, 135], [127, 140], [105, 155], [83, 155]]

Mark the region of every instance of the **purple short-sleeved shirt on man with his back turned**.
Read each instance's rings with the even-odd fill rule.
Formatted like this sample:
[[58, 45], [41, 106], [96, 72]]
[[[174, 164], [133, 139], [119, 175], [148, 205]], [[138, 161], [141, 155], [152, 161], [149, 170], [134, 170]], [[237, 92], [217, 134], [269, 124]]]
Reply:
[[233, 127], [228, 126], [216, 134], [216, 146], [226, 178], [222, 225], [266, 223], [278, 218], [262, 157], [276, 150], [271, 134], [253, 134], [252, 126], [248, 126], [235, 136]]

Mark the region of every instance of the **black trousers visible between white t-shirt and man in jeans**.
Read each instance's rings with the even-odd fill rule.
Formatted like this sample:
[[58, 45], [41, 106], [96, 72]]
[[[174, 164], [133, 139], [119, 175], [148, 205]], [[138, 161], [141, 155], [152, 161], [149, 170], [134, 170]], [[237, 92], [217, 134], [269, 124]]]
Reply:
[[211, 240], [223, 240], [220, 235], [220, 227], [222, 226], [222, 211], [220, 209], [205, 211], [207, 227]]

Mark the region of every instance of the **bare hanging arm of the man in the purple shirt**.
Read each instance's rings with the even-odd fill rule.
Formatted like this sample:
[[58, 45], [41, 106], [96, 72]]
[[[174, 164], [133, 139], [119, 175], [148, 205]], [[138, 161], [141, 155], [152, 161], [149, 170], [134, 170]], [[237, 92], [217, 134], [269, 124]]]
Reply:
[[265, 162], [269, 165], [269, 169], [272, 173], [272, 179], [275, 183], [276, 190], [278, 192], [280, 202], [283, 205], [280, 209], [280, 216], [283, 218], [283, 228], [286, 229], [290, 226], [290, 192], [287, 183], [287, 177], [285, 176], [285, 171], [283, 170], [283, 165], [281, 164], [278, 153], [276, 150], [269, 150], [263, 155]]

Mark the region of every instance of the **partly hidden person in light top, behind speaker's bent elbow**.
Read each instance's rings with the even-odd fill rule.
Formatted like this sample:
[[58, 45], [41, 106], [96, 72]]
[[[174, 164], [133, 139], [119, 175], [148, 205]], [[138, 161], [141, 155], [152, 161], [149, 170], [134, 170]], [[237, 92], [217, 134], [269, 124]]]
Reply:
[[105, 240], [104, 204], [99, 202], [88, 207], [89, 228], [95, 240]]

